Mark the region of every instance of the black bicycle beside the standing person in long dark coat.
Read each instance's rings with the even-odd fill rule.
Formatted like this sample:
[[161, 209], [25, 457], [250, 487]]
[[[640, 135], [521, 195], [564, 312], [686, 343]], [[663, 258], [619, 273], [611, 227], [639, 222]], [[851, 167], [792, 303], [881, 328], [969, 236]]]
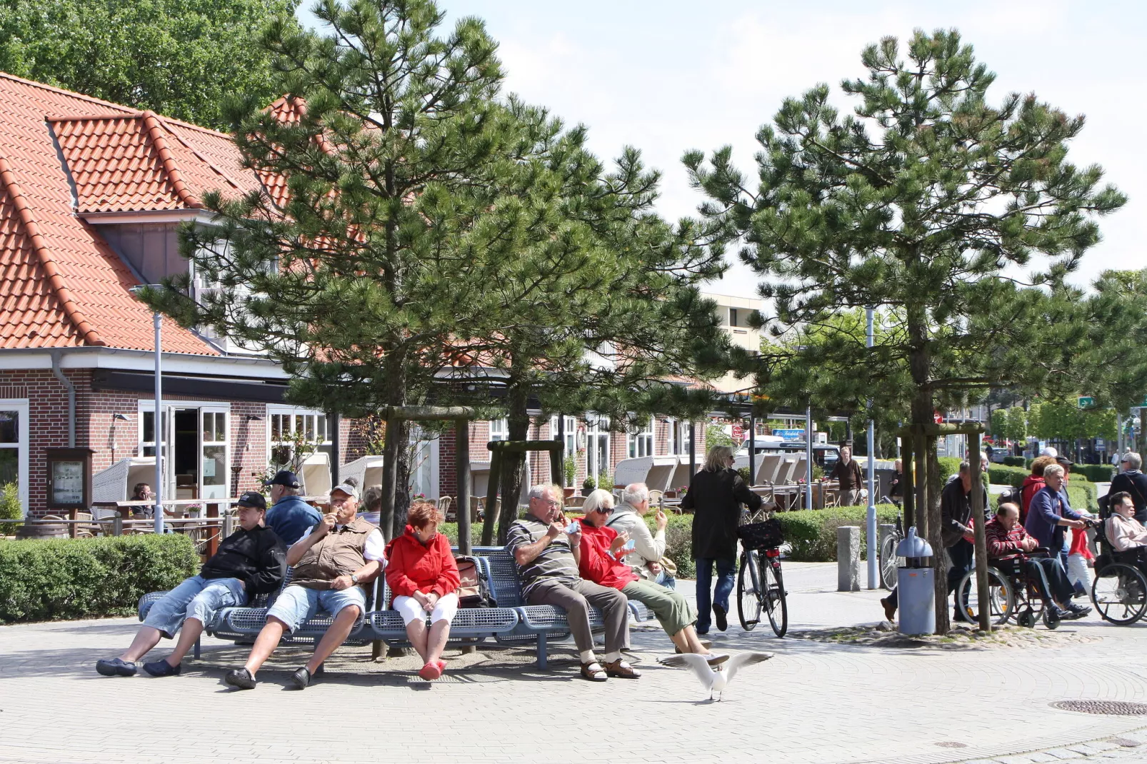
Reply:
[[749, 523], [736, 529], [741, 538], [741, 564], [736, 578], [736, 614], [741, 629], [752, 631], [764, 610], [778, 637], [788, 631], [788, 600], [781, 574], [785, 543], [780, 522], [775, 519]]

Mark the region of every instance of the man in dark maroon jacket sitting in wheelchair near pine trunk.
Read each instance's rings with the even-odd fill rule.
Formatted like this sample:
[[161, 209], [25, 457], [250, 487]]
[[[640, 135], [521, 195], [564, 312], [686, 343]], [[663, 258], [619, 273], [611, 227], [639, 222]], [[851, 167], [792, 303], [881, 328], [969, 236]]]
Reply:
[[1019, 506], [1001, 504], [996, 516], [984, 525], [984, 536], [988, 538], [989, 562], [1005, 574], [1008, 562], [1015, 564], [1038, 587], [1047, 606], [1058, 610], [1060, 619], [1082, 618], [1091, 613], [1091, 608], [1071, 601], [1075, 588], [1059, 555], [1047, 556], [1046, 549], [1037, 552], [1039, 541], [1020, 524]]

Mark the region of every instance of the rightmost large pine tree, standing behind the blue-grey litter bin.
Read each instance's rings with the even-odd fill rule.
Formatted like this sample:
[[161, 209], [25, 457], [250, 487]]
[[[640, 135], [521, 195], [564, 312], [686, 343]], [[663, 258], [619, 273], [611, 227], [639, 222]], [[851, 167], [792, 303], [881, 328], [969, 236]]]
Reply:
[[[1099, 240], [1094, 218], [1125, 200], [1100, 186], [1100, 167], [1068, 162], [1083, 117], [1035, 95], [990, 104], [994, 76], [958, 32], [918, 31], [906, 54], [895, 38], [864, 50], [868, 78], [841, 85], [855, 115], [829, 104], [827, 85], [786, 100], [757, 134], [755, 190], [727, 147], [708, 165], [700, 151], [685, 163], [709, 197], [704, 219], [743, 237], [741, 258], [764, 276], [782, 328], [867, 305], [894, 321], [873, 351], [840, 335], [796, 350], [798, 365], [834, 362], [849, 371], [837, 395], [899, 402], [923, 427], [938, 405], [994, 385], [1063, 384], [1087, 334], [1063, 278]], [[1017, 286], [1012, 274], [1036, 256], [1046, 267]], [[934, 442], [929, 452], [927, 528], [939, 549]]]

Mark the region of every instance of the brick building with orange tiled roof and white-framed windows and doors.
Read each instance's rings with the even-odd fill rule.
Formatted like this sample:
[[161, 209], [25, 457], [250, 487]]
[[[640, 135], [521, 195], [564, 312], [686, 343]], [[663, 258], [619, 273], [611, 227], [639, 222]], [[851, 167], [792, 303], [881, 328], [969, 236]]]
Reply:
[[[17, 484], [26, 512], [47, 512], [50, 449], [91, 449], [94, 473], [128, 458], [154, 471], [153, 315], [130, 289], [193, 267], [178, 226], [211, 224], [205, 192], [259, 188], [225, 134], [0, 72], [0, 484]], [[194, 289], [211, 288], [190, 275]], [[284, 400], [278, 365], [171, 320], [162, 346], [166, 498], [259, 485], [295, 430], [318, 444], [312, 476], [365, 454], [356, 422]], [[555, 421], [531, 437], [555, 437]], [[579, 415], [565, 431], [575, 484], [627, 455], [688, 446], [687, 424], [672, 420], [618, 434]], [[478, 493], [485, 443], [500, 437], [504, 422], [471, 424]], [[416, 492], [453, 492], [453, 443], [448, 434], [419, 446]], [[544, 480], [548, 465], [535, 458], [531, 473]]]

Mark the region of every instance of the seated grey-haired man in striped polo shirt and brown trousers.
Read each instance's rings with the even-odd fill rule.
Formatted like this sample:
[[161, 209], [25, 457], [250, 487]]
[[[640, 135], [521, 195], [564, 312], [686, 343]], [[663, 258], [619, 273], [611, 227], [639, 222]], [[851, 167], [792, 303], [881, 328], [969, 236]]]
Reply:
[[[583, 677], [591, 681], [606, 681], [609, 677], [637, 679], [641, 672], [622, 660], [622, 650], [630, 646], [625, 595], [578, 575], [580, 545], [579, 524], [571, 524], [562, 513], [561, 488], [530, 489], [530, 512], [509, 527], [506, 539], [506, 551], [517, 563], [522, 597], [529, 605], [553, 605], [565, 610]], [[591, 605], [606, 617], [604, 668], [593, 653]]]

